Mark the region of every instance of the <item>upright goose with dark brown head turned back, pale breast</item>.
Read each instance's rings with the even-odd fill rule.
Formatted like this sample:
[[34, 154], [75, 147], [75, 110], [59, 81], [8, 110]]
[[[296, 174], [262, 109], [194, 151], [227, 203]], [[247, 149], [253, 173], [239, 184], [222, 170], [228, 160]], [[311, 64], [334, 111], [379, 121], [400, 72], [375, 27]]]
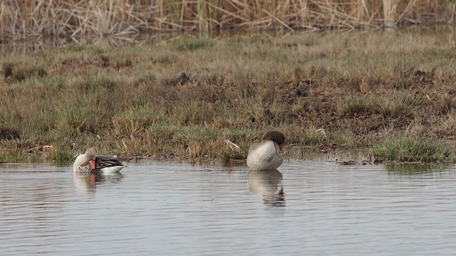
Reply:
[[282, 157], [277, 151], [276, 145], [280, 150], [283, 150], [284, 142], [285, 136], [281, 132], [266, 132], [261, 142], [254, 143], [249, 147], [247, 153], [249, 169], [254, 171], [276, 170], [282, 164]]

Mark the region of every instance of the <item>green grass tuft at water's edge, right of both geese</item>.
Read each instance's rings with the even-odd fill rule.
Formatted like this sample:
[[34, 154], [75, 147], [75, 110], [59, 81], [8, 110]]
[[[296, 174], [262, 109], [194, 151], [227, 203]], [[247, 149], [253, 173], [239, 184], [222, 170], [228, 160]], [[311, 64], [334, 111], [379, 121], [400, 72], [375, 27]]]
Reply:
[[392, 162], [420, 162], [443, 164], [454, 161], [451, 146], [423, 137], [388, 139], [375, 146], [373, 156]]

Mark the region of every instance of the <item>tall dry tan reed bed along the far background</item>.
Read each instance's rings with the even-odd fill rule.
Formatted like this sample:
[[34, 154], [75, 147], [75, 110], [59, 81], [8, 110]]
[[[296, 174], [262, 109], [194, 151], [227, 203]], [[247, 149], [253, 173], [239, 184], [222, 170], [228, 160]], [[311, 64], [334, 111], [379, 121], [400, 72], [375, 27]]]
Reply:
[[454, 14], [454, 0], [3, 0], [0, 38], [345, 29], [452, 22]]

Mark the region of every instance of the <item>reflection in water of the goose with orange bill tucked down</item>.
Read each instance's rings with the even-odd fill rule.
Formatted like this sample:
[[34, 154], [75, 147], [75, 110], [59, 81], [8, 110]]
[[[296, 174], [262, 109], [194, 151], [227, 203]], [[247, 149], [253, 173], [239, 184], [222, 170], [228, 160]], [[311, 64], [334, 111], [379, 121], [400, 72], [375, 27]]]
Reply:
[[81, 193], [95, 193], [96, 185], [104, 182], [118, 182], [123, 178], [121, 173], [95, 174], [73, 172], [73, 182], [76, 190]]

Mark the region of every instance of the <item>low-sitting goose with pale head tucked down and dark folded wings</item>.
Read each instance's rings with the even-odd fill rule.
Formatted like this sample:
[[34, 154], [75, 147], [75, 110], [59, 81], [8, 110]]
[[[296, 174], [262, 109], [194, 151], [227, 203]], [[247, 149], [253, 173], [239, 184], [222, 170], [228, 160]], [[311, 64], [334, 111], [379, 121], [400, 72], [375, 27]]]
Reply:
[[90, 173], [100, 171], [103, 174], [118, 173], [124, 166], [118, 159], [108, 156], [97, 156], [95, 149], [90, 148], [86, 153], [76, 157], [73, 164], [74, 172]]

